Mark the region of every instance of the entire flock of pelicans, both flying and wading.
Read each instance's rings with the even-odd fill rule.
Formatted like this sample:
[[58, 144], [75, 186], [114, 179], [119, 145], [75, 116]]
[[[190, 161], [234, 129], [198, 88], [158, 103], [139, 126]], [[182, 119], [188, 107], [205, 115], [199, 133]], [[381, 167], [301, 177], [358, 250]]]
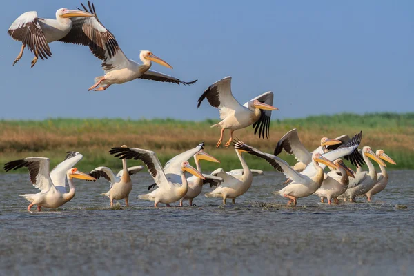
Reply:
[[[102, 60], [101, 66], [105, 75], [95, 78], [95, 84], [89, 90], [106, 90], [112, 84], [121, 84], [133, 79], [149, 79], [186, 85], [197, 81], [184, 82], [175, 77], [150, 70], [151, 61], [168, 68], [172, 67], [148, 50], [142, 50], [139, 56], [144, 64], [140, 65], [128, 59], [119, 48], [114, 35], [97, 18], [93, 3], [88, 1], [88, 7], [82, 4], [82, 8], [83, 10], [61, 8], [56, 12], [56, 19], [39, 18], [37, 12], [34, 11], [21, 14], [8, 30], [8, 34], [13, 39], [22, 43], [21, 51], [13, 65], [21, 59], [23, 50], [28, 48], [34, 53], [33, 67], [39, 57], [47, 59], [52, 55], [48, 43], [61, 41], [88, 46], [92, 54]], [[226, 172], [219, 168], [210, 175], [201, 173], [201, 160], [219, 162], [204, 151], [204, 143], [170, 159], [164, 167], [155, 152], [150, 150], [128, 148], [125, 145], [112, 148], [110, 154], [122, 159], [123, 169], [117, 175], [105, 166], [95, 168], [89, 174], [73, 168], [83, 158], [79, 152], [68, 152], [66, 159], [51, 172], [50, 160], [46, 157], [28, 157], [10, 161], [3, 168], [6, 171], [22, 167], [28, 168], [30, 181], [35, 188], [41, 190], [36, 194], [21, 195], [30, 202], [29, 211], [34, 205], [37, 205], [37, 210], [41, 211], [41, 207], [58, 208], [70, 201], [75, 196], [74, 178], [88, 181], [95, 181], [99, 177], [105, 178], [110, 182], [110, 190], [103, 195], [109, 197], [110, 206], [113, 206], [114, 200], [121, 199], [125, 199], [126, 206], [129, 206], [128, 198], [132, 190], [130, 175], [139, 172], [144, 167], [128, 168], [127, 159], [139, 159], [148, 168], [155, 181], [155, 184], [150, 185], [148, 190], [155, 188], [155, 186], [157, 188], [146, 195], [139, 195], [139, 198], [154, 201], [155, 207], [159, 203], [170, 206], [177, 201], [182, 206], [184, 200], [188, 200], [189, 205], [192, 206], [193, 199], [201, 194], [204, 184], [216, 186], [215, 190], [205, 194], [206, 197], [220, 197], [223, 204], [226, 204], [226, 199], [232, 199], [234, 204], [235, 199], [250, 188], [253, 176], [263, 173], [260, 170], [248, 168], [242, 156], [244, 153], [265, 159], [273, 168], [284, 173], [287, 185], [277, 193], [288, 198], [288, 204], [293, 206], [296, 206], [298, 198], [313, 194], [321, 197], [322, 202], [324, 198], [328, 199], [328, 204], [331, 204], [331, 200], [338, 204], [338, 197], [355, 201], [355, 197], [363, 195], [366, 195], [368, 201], [371, 201], [372, 195], [385, 188], [388, 174], [383, 160], [391, 164], [395, 164], [395, 161], [388, 157], [384, 150], [377, 150], [374, 153], [368, 146], [357, 150], [361, 143], [362, 132], [351, 139], [347, 135], [336, 139], [324, 137], [321, 139], [321, 146], [313, 152], [309, 152], [299, 140], [297, 130], [293, 129], [280, 139], [273, 155], [261, 152], [242, 141], [233, 141], [233, 132], [248, 126], [253, 126], [255, 135], [257, 134], [263, 139], [265, 136], [268, 138], [271, 112], [277, 108], [273, 106], [273, 92], [270, 91], [241, 105], [233, 97], [230, 84], [231, 77], [225, 77], [213, 83], [199, 97], [197, 108], [200, 107], [204, 99], [207, 99], [211, 106], [219, 109], [221, 121], [211, 126], [221, 128], [216, 146], [217, 148], [220, 146], [224, 130], [230, 130], [230, 139], [225, 146], [234, 145], [242, 169]], [[295, 155], [298, 163], [290, 166], [286, 161], [277, 157], [282, 150]], [[196, 168], [188, 163], [191, 157], [195, 160]], [[348, 168], [342, 158], [357, 166], [356, 172]], [[380, 165], [381, 173], [377, 174], [370, 159]], [[361, 166], [364, 164], [367, 164], [368, 172], [361, 170]], [[326, 166], [331, 169], [330, 172], [324, 172]], [[187, 178], [186, 172], [193, 176]], [[70, 188], [68, 192], [66, 184]]]

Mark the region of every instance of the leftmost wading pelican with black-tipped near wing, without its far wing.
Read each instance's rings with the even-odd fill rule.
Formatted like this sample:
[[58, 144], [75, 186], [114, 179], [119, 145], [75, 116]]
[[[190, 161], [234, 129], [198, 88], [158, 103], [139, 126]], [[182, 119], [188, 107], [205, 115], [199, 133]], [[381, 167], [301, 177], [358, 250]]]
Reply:
[[[69, 183], [69, 192], [62, 193], [59, 191], [55, 184], [52, 181], [52, 178], [49, 174], [50, 161], [45, 157], [28, 157], [25, 159], [10, 161], [6, 163], [3, 167], [6, 172], [9, 170], [17, 170], [21, 167], [27, 167], [30, 174], [30, 182], [32, 182], [34, 188], [38, 188], [41, 192], [37, 194], [26, 194], [19, 195], [27, 199], [30, 204], [28, 206], [28, 211], [33, 205], [37, 204], [37, 210], [40, 212], [41, 207], [46, 208], [58, 208], [70, 201], [75, 197], [75, 186], [73, 186], [72, 179], [84, 179], [84, 180], [96, 180], [94, 177], [86, 175], [83, 172], [79, 172], [77, 168], [71, 168], [66, 172], [66, 177], [68, 177]], [[60, 183], [61, 184], [61, 183]], [[63, 187], [64, 187], [63, 181]]]

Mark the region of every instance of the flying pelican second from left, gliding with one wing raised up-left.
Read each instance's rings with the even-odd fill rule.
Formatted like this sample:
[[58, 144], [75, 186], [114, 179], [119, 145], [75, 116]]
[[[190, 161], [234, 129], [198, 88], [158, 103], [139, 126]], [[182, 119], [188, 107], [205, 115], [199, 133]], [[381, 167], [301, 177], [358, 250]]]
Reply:
[[[101, 67], [103, 72], [105, 72], [105, 75], [95, 78], [95, 84], [88, 90], [102, 91], [106, 90], [112, 84], [126, 83], [134, 79], [150, 79], [152, 81], [182, 83], [184, 85], [193, 84], [197, 81], [196, 79], [195, 81], [185, 82], [175, 77], [150, 70], [151, 61], [168, 68], [172, 68], [172, 66], [148, 50], [141, 50], [139, 54], [139, 58], [144, 64], [139, 64], [128, 59], [121, 48], [119, 48], [115, 36], [99, 21], [95, 6], [88, 1], [89, 9], [83, 4], [82, 7], [85, 12], [94, 14], [95, 16], [94, 18], [96, 20], [90, 21], [88, 25], [91, 32], [89, 37], [93, 38], [88, 45], [92, 54], [102, 61]], [[98, 39], [95, 39], [95, 37], [98, 37]]]

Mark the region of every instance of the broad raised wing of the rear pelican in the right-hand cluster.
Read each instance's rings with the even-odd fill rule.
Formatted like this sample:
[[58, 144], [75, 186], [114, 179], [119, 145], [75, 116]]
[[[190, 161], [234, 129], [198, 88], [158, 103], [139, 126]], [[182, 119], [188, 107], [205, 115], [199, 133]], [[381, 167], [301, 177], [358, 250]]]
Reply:
[[310, 164], [312, 162], [311, 152], [308, 152], [300, 141], [296, 128], [290, 130], [277, 142], [273, 155], [279, 155], [282, 150], [285, 150], [289, 155], [295, 155], [295, 158], [299, 162], [304, 164]]

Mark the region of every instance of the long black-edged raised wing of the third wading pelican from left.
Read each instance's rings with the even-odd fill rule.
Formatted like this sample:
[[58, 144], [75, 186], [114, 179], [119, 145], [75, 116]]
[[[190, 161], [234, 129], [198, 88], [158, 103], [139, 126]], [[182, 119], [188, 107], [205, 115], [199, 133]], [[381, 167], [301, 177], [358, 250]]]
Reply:
[[147, 166], [155, 183], [160, 187], [170, 188], [168, 179], [162, 170], [161, 163], [155, 152], [143, 150], [141, 148], [112, 148], [109, 153], [119, 157], [119, 159], [135, 159], [141, 160]]

